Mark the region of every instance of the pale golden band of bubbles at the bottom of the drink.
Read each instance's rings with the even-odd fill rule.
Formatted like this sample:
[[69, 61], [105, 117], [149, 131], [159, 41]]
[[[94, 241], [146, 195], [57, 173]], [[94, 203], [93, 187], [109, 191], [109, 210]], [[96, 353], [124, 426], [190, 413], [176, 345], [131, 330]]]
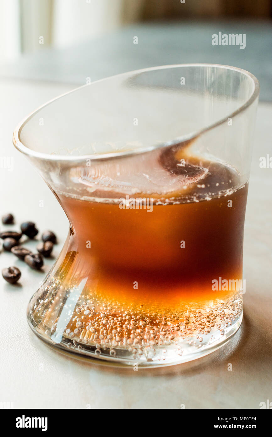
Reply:
[[50, 281], [31, 302], [32, 317], [43, 320], [42, 329], [53, 341], [60, 336], [78, 352], [92, 346], [96, 356], [107, 350], [111, 358], [126, 350], [134, 360], [164, 360], [169, 345], [176, 345], [179, 356], [188, 347], [207, 347], [224, 336], [242, 312], [239, 292], [224, 300], [179, 302], [167, 308], [152, 302], [129, 305], [91, 291], [77, 296], [76, 290]]

